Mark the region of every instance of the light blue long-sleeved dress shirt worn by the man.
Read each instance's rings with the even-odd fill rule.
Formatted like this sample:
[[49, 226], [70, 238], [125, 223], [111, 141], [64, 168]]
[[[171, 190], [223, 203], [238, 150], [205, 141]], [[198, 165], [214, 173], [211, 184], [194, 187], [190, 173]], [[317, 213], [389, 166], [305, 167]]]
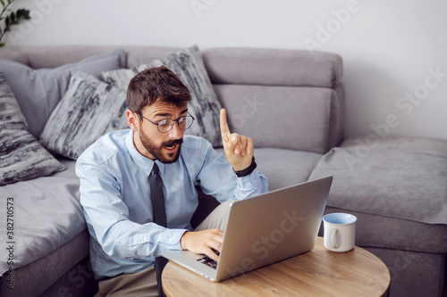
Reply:
[[197, 136], [183, 137], [178, 161], [156, 164], [164, 183], [167, 228], [153, 223], [148, 176], [154, 161], [137, 151], [131, 129], [101, 137], [80, 155], [76, 174], [97, 279], [138, 272], [152, 266], [160, 252], [181, 250], [181, 235], [191, 230], [198, 207], [195, 185], [219, 202], [268, 190], [262, 173], [237, 177], [223, 155]]

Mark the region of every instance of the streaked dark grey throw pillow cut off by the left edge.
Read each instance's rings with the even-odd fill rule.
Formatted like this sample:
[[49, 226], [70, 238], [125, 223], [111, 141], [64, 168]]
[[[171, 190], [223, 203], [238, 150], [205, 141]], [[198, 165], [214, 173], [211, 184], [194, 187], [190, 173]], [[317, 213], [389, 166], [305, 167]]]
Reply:
[[26, 128], [19, 104], [0, 72], [0, 186], [64, 169]]

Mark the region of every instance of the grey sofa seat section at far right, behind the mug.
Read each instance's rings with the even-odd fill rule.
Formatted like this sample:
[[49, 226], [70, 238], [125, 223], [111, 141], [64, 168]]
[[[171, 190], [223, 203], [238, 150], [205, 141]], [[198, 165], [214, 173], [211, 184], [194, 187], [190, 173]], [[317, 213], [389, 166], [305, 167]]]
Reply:
[[310, 178], [333, 175], [325, 213], [357, 216], [357, 245], [445, 253], [446, 171], [446, 141], [369, 135], [326, 153]]

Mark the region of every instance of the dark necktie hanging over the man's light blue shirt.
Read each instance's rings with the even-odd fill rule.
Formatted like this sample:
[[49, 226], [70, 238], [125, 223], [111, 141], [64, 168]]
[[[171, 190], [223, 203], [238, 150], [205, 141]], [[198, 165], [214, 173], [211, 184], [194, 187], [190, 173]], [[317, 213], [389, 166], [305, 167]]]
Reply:
[[[149, 175], [150, 200], [152, 201], [152, 211], [154, 223], [167, 227], [166, 210], [164, 209], [163, 181], [158, 171], [158, 166], [154, 162], [154, 167]], [[163, 257], [156, 257], [156, 286], [158, 296], [165, 296], [162, 286], [162, 272], [167, 260]]]

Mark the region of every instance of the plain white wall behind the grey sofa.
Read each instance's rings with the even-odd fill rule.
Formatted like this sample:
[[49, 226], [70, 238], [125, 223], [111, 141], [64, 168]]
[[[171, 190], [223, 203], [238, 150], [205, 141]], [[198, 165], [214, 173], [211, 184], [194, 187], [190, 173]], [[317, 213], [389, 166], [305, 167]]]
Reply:
[[[342, 55], [349, 136], [447, 139], [446, 0], [19, 0], [14, 5], [30, 8], [33, 18], [10, 33], [8, 45], [307, 49], [312, 39], [316, 49]], [[423, 99], [409, 101], [405, 95], [411, 93]]]

